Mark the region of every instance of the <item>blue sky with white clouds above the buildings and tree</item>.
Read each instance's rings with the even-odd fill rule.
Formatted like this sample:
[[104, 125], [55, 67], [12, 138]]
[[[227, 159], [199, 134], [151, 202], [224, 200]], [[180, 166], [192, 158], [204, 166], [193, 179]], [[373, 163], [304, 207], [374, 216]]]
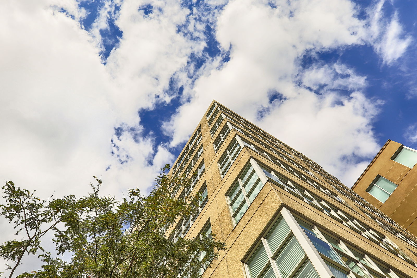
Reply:
[[0, 180], [45, 199], [83, 196], [93, 176], [103, 195], [146, 194], [215, 99], [351, 187], [388, 139], [417, 149], [416, 13], [414, 0], [1, 1]]

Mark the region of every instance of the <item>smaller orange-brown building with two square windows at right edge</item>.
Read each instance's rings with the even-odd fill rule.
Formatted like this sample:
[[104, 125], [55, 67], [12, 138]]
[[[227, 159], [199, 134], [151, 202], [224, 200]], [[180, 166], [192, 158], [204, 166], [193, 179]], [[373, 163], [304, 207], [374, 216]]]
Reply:
[[417, 151], [388, 140], [352, 190], [417, 235]]

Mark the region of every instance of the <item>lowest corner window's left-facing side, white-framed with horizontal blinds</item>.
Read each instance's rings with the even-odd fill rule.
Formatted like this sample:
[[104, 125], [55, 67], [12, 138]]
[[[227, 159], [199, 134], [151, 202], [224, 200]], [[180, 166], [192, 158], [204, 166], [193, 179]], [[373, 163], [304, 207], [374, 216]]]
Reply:
[[319, 278], [283, 217], [261, 238], [245, 262], [250, 278]]

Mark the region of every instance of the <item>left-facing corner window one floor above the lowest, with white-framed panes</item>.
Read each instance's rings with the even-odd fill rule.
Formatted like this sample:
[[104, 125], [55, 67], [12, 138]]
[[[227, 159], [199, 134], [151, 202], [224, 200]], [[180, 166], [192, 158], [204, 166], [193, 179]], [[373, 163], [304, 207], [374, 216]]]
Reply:
[[226, 193], [234, 225], [242, 218], [263, 185], [254, 167], [249, 163], [229, 192]]

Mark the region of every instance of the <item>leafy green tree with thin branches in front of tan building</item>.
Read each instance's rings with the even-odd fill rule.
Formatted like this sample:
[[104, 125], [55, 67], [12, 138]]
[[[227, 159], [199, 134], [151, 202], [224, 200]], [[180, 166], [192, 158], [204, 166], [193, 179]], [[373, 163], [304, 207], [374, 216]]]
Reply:
[[[24, 232], [25, 240], [11, 240], [0, 246], [0, 255], [11, 260], [9, 278], [23, 255], [43, 251], [40, 238], [53, 231], [58, 254], [71, 254], [69, 261], [52, 258], [50, 253], [39, 257], [45, 263], [38, 271], [23, 273], [18, 278], [91, 277], [97, 278], [177, 278], [186, 274], [200, 277], [199, 270], [218, 258], [224, 243], [214, 236], [196, 239], [168, 240], [166, 230], [179, 217], [196, 211], [193, 205], [201, 196], [185, 200], [174, 198], [172, 192], [190, 186], [185, 176], [170, 179], [169, 165], [161, 169], [156, 185], [148, 196], [136, 188], [118, 202], [102, 197], [97, 184], [92, 193], [78, 200], [73, 195], [48, 200], [35, 197], [35, 192], [21, 190], [13, 182], [3, 186], [5, 205], [1, 215], [15, 224], [16, 235]], [[61, 223], [61, 224], [60, 224]], [[63, 227], [62, 227], [63, 226]], [[129, 229], [125, 227], [130, 226]], [[201, 254], [206, 254], [201, 259]], [[184, 273], [186, 272], [186, 273]]]

